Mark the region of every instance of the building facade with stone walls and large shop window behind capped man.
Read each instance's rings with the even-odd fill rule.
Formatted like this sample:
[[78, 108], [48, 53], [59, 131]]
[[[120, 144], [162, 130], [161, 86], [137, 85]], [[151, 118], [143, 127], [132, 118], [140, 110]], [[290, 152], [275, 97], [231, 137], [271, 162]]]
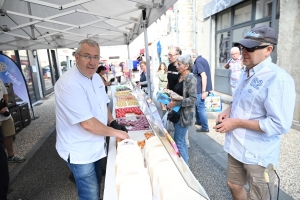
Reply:
[[[294, 120], [300, 121], [300, 2], [293, 0], [204, 0], [197, 1], [197, 49], [208, 58], [214, 90], [231, 95], [230, 70], [224, 64], [230, 49], [253, 27], [267, 25], [278, 32], [272, 61], [285, 69], [296, 85]], [[280, 92], [280, 91], [278, 91]]]

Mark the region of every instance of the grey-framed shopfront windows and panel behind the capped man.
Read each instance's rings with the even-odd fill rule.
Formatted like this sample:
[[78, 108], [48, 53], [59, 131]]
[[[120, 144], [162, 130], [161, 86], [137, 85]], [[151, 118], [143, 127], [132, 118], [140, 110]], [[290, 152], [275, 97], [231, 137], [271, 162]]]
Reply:
[[[234, 43], [243, 39], [252, 27], [267, 25], [279, 31], [280, 0], [232, 0], [227, 5], [215, 1], [204, 6], [210, 8], [210, 13], [204, 17], [214, 15], [215, 19], [215, 86], [214, 89], [231, 95], [230, 70], [224, 65], [230, 59], [230, 49]], [[225, 3], [226, 3], [225, 2]], [[213, 13], [215, 12], [215, 13]], [[272, 60], [277, 62], [277, 49], [272, 53]]]

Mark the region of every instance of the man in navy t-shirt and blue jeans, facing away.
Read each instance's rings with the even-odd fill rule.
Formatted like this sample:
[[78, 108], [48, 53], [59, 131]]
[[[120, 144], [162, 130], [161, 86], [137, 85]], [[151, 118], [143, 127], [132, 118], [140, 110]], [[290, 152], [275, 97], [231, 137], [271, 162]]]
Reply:
[[198, 56], [195, 59], [193, 74], [197, 78], [197, 103], [196, 103], [196, 125], [202, 127], [197, 132], [209, 132], [208, 120], [205, 111], [205, 98], [212, 90], [210, 67], [205, 58]]

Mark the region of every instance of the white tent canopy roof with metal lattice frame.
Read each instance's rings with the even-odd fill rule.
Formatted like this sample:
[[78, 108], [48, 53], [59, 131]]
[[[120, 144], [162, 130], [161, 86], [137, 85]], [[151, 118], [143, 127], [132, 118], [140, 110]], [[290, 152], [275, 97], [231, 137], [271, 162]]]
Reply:
[[100, 46], [124, 45], [177, 0], [0, 0], [0, 50], [76, 48], [93, 38]]

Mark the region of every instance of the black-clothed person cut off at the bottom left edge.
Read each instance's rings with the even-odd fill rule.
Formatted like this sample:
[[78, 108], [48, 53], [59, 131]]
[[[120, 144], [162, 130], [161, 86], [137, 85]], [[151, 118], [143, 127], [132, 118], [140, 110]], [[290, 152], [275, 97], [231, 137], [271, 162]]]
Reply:
[[7, 165], [7, 156], [4, 149], [4, 136], [0, 127], [0, 199], [7, 200], [7, 191], [9, 186], [9, 172]]

